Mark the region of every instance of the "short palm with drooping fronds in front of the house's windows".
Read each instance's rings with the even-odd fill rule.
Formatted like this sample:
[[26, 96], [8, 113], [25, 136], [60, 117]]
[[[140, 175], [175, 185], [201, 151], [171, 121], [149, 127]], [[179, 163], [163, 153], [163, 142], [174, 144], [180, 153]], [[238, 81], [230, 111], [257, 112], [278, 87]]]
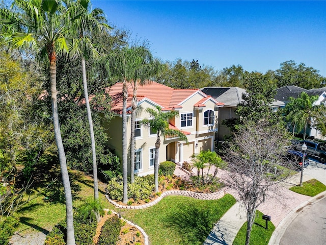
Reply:
[[157, 138], [155, 142], [155, 158], [154, 158], [154, 182], [155, 191], [158, 192], [158, 150], [161, 144], [161, 137], [175, 136], [180, 138], [180, 140], [188, 141], [187, 137], [182, 133], [182, 131], [169, 129], [169, 119], [172, 119], [179, 115], [178, 111], [162, 112], [159, 106], [156, 110], [152, 108], [147, 108], [145, 110], [151, 119], [145, 118], [141, 121], [141, 124], [151, 127], [157, 133]]

